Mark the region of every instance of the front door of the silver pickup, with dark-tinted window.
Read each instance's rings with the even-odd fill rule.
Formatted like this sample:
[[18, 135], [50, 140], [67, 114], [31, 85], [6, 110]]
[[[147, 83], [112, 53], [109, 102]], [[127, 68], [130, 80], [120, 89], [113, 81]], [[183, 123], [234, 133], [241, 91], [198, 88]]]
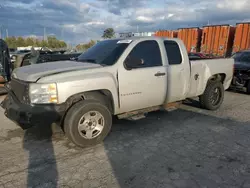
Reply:
[[139, 42], [128, 57], [141, 59], [138, 68], [118, 70], [120, 112], [164, 103], [167, 91], [167, 67], [163, 66], [159, 44], [155, 40]]

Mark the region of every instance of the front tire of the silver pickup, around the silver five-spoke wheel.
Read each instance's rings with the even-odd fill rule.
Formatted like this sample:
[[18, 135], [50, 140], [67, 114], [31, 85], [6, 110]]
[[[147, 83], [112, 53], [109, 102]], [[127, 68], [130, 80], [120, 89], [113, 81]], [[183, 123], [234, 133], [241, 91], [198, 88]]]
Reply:
[[[86, 118], [84, 118], [84, 114], [86, 114]], [[92, 114], [91, 114], [92, 113]], [[93, 115], [95, 114], [95, 115]], [[91, 135], [94, 135], [95, 132], [99, 132], [99, 134], [96, 137], [90, 138], [87, 132], [92, 131], [92, 129], [95, 128], [86, 128], [85, 124], [87, 126], [91, 126], [90, 123], [88, 122], [87, 117], [97, 117], [96, 115], [99, 114], [101, 117], [97, 121], [99, 123], [96, 123], [97, 121], [93, 122], [90, 120], [92, 126], [95, 126], [94, 124], [101, 124], [100, 122], [103, 123], [102, 130], [99, 132], [99, 130], [95, 130], [94, 132], [91, 133]], [[93, 115], [93, 116], [92, 116]], [[84, 130], [79, 130], [82, 129], [78, 126], [78, 123], [80, 120], [83, 118], [83, 125], [82, 127], [85, 127]], [[97, 118], [93, 118], [97, 119]], [[112, 114], [108, 107], [96, 100], [83, 100], [80, 102], [77, 102], [74, 104], [69, 111], [67, 112], [64, 120], [64, 131], [66, 136], [77, 146], [80, 147], [88, 147], [92, 145], [96, 145], [101, 143], [105, 137], [109, 134], [112, 126]], [[97, 127], [97, 126], [96, 126]], [[85, 131], [87, 130], [87, 131]], [[97, 134], [97, 133], [96, 133]], [[88, 137], [88, 138], [86, 138]]]

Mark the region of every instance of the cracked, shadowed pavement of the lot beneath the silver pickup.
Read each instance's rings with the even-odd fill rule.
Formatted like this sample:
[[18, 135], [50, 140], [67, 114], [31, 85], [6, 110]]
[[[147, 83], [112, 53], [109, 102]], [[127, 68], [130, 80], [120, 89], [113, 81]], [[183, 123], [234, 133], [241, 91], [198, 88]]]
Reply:
[[81, 149], [52, 126], [26, 132], [0, 110], [1, 187], [250, 187], [250, 96], [226, 92], [217, 112], [181, 109], [115, 121]]

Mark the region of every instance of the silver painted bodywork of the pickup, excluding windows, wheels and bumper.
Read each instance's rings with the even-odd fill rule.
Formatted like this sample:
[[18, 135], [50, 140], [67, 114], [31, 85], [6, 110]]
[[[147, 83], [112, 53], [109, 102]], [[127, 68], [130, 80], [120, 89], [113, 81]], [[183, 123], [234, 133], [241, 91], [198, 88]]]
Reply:
[[[183, 42], [179, 39], [158, 37], [135, 38], [112, 66], [94, 63], [59, 61], [21, 67], [14, 71], [17, 79], [49, 83], [56, 82], [59, 103], [86, 91], [108, 90], [113, 97], [114, 114], [121, 114], [147, 107], [163, 105], [201, 95], [211, 76], [225, 75], [224, 89], [233, 77], [233, 59], [212, 59], [189, 61]], [[158, 42], [162, 66], [126, 70], [124, 61], [136, 44], [145, 40]], [[169, 65], [163, 41], [178, 43], [182, 63]], [[190, 66], [191, 64], [191, 66]], [[165, 73], [155, 77], [157, 72]], [[198, 79], [195, 80], [195, 75]]]

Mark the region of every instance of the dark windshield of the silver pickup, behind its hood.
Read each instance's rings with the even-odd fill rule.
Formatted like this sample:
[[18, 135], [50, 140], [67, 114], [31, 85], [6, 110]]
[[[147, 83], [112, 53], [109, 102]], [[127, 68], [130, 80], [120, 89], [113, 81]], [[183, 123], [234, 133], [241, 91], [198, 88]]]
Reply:
[[81, 54], [77, 61], [113, 65], [129, 45], [128, 43], [117, 44], [118, 41], [117, 39], [98, 42]]

